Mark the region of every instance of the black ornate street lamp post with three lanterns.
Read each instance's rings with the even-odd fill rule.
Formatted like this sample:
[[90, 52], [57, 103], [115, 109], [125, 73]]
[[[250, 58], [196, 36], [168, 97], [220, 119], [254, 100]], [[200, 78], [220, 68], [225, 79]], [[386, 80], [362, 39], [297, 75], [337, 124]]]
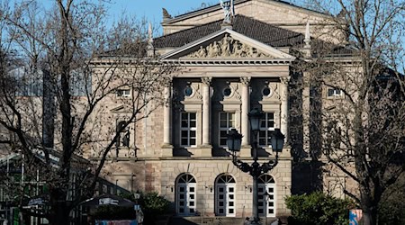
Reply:
[[278, 163], [278, 152], [281, 152], [284, 147], [284, 134], [280, 131], [280, 129], [275, 129], [275, 132], [272, 135], [272, 148], [275, 152], [275, 159], [270, 159], [268, 162], [263, 163], [260, 165], [257, 160], [257, 133], [260, 130], [260, 123], [262, 122], [264, 117], [264, 113], [259, 111], [257, 108], [253, 109], [251, 112], [248, 113], [248, 118], [250, 121], [250, 129], [253, 131], [253, 138], [254, 141], [252, 143], [253, 149], [253, 163], [248, 165], [246, 162], [238, 159], [238, 152], [240, 151], [241, 139], [242, 135], [238, 133], [238, 130], [232, 129], [229, 131], [227, 145], [228, 149], [232, 156], [232, 163], [233, 165], [237, 166], [244, 173], [248, 173], [253, 178], [253, 220], [251, 224], [259, 224], [259, 216], [258, 216], [258, 204], [257, 204], [257, 178], [262, 175], [266, 174], [268, 171], [272, 170]]

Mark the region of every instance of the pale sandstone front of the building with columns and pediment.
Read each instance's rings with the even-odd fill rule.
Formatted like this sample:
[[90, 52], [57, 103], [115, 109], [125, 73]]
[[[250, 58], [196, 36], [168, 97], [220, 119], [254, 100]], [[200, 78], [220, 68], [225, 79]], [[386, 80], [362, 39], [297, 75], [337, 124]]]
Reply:
[[[342, 35], [330, 31], [330, 18], [294, 5], [241, 0], [236, 1], [235, 10], [247, 16], [237, 20], [249, 18], [283, 31], [296, 31], [296, 35], [311, 31], [312, 38], [344, 40]], [[162, 23], [165, 36], [157, 38], [163, 42], [171, 35], [181, 35], [182, 31], [185, 35], [187, 29], [221, 20], [223, 12], [218, 5], [172, 19], [167, 16]], [[307, 23], [311, 23], [311, 29], [306, 29]], [[328, 36], [323, 36], [325, 31]], [[181, 46], [163, 44], [155, 48], [153, 51], [161, 60], [178, 63], [181, 72], [165, 86], [163, 94], [167, 104], [158, 106], [148, 118], [130, 126], [133, 130], [130, 148], [122, 148], [120, 155], [112, 156], [112, 163], [104, 168], [105, 177], [131, 191], [153, 191], [165, 196], [178, 216], [250, 216], [252, 177], [232, 164], [223, 141], [227, 130], [237, 129], [243, 135], [240, 157], [251, 162], [252, 135], [247, 112], [257, 107], [266, 112], [267, 124], [259, 135], [259, 161], [275, 158], [266, 135], [280, 128], [286, 136], [279, 164], [261, 176], [260, 216], [289, 214], [284, 198], [292, 193], [311, 191], [317, 187], [317, 182], [321, 185], [318, 188], [341, 197], [343, 189], [338, 185], [350, 183], [347, 177], [321, 161], [319, 165], [293, 162], [296, 153], [290, 146], [289, 122], [293, 107], [290, 80], [294, 76], [292, 66], [296, 58], [290, 54], [291, 50], [288, 45], [275, 48], [255, 40], [232, 29], [231, 25]], [[305, 49], [300, 50], [305, 52]], [[320, 93], [326, 96], [326, 92], [327, 89]], [[309, 94], [309, 89], [302, 91], [305, 111], [302, 132], [307, 133], [311, 132]], [[119, 117], [120, 113], [118, 110], [115, 116]], [[301, 148], [310, 153], [309, 135], [302, 136], [308, 144], [303, 141]], [[295, 150], [295, 145], [293, 148]], [[133, 155], [125, 152], [133, 152]], [[322, 169], [335, 172], [320, 181], [314, 171]]]

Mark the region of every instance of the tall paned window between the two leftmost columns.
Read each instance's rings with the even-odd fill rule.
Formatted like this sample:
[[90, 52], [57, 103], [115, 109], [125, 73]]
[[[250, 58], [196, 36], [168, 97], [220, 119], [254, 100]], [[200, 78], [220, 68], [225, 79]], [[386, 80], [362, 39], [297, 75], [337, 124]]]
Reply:
[[195, 147], [197, 145], [197, 113], [182, 112], [180, 124], [180, 145]]

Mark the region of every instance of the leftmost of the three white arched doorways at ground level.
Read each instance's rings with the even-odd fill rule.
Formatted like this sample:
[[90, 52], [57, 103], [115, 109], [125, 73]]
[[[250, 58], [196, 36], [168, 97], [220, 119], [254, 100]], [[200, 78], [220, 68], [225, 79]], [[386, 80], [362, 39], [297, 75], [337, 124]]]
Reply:
[[179, 175], [175, 183], [175, 209], [178, 215], [193, 216], [195, 214], [197, 183], [193, 175]]

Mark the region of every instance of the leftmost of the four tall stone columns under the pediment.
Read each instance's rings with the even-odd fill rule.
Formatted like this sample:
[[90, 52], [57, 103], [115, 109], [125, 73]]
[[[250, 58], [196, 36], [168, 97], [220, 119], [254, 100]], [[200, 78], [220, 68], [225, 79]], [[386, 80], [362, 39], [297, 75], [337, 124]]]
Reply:
[[[163, 107], [163, 148], [173, 148], [172, 132], [172, 86], [168, 83], [165, 87], [166, 104]], [[164, 154], [166, 155], [166, 154]]]

